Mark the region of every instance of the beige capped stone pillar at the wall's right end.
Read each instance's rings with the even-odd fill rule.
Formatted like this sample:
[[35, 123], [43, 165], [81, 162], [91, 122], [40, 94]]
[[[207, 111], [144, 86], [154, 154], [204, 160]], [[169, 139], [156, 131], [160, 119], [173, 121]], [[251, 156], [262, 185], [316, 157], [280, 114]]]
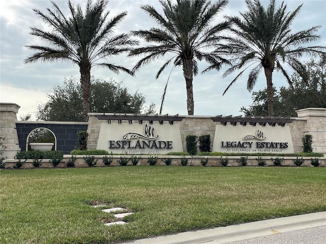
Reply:
[[312, 135], [313, 152], [326, 157], [326, 108], [304, 108], [295, 112], [298, 117], [307, 118], [304, 134]]

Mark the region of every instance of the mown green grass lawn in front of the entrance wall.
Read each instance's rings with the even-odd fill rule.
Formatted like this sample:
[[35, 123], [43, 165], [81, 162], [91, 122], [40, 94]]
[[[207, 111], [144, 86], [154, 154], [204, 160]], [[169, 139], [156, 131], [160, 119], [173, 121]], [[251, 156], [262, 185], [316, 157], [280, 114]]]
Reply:
[[[326, 210], [325, 167], [1, 170], [1, 243], [108, 243]], [[105, 203], [134, 212], [104, 226]]]

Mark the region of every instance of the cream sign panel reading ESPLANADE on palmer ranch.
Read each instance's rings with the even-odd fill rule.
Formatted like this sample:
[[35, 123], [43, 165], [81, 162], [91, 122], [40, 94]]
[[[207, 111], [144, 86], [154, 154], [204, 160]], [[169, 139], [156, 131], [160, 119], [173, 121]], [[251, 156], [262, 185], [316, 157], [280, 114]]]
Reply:
[[101, 123], [96, 149], [131, 155], [182, 151], [179, 125]]

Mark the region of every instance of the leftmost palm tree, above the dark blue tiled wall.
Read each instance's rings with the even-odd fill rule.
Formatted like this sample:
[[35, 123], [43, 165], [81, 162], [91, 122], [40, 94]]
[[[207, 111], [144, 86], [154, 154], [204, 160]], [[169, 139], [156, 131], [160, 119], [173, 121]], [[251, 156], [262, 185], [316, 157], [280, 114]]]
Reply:
[[85, 11], [69, 0], [69, 17], [63, 14], [56, 3], [51, 3], [53, 10], [47, 9], [47, 14], [34, 9], [35, 14], [52, 28], [51, 32], [31, 27], [30, 33], [50, 45], [26, 46], [36, 53], [26, 58], [24, 63], [65, 60], [78, 65], [83, 90], [83, 115], [87, 119], [90, 111], [91, 68], [106, 67], [115, 73], [124, 71], [132, 75], [130, 70], [122, 66], [106, 63], [106, 58], [126, 52], [138, 42], [130, 39], [128, 34], [113, 35], [114, 28], [127, 13], [122, 12], [108, 19], [110, 11], [105, 12], [106, 0], [88, 0]]

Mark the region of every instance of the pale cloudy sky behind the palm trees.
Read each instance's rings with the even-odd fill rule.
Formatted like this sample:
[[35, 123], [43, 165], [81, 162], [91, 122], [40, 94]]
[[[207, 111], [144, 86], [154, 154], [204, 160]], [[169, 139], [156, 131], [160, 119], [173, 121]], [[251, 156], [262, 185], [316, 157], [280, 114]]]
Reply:
[[[69, 14], [67, 1], [55, 0], [54, 2], [65, 14]], [[73, 3], [80, 4], [82, 7], [85, 6], [86, 2], [86, 0], [73, 0]], [[265, 6], [269, 3], [269, 1], [264, 0], [261, 2]], [[320, 39], [312, 45], [326, 46], [326, 0], [284, 2], [288, 6], [288, 11], [293, 11], [303, 3], [300, 13], [291, 25], [292, 31], [298, 32], [315, 25], [321, 25], [318, 32]], [[157, 0], [111, 0], [107, 5], [111, 18], [123, 11], [128, 12], [128, 15], [116, 27], [116, 32], [127, 33], [132, 30], [157, 26], [140, 8], [141, 5], [147, 4], [154, 6], [158, 11], [161, 10]], [[277, 6], [280, 4], [281, 1], [277, 1]], [[18, 120], [28, 113], [31, 113], [32, 119], [35, 120], [37, 105], [46, 103], [47, 94], [51, 93], [53, 86], [62, 85], [65, 78], [73, 77], [79, 80], [80, 77], [78, 66], [68, 62], [23, 64], [24, 59], [33, 54], [33, 51], [25, 47], [26, 45], [46, 45], [46, 43], [29, 34], [31, 26], [41, 29], [47, 28], [33, 12], [33, 9], [39, 9], [46, 13], [46, 8], [52, 9], [50, 1], [0, 1], [0, 101], [16, 103], [20, 106], [17, 114]], [[239, 12], [246, 11], [246, 9], [244, 0], [230, 0], [215, 21], [222, 21], [225, 15], [238, 15]], [[122, 81], [130, 93], [135, 93], [138, 90], [146, 97], [145, 106], [151, 102], [155, 103], [158, 112], [161, 95], [172, 66], [168, 67], [158, 79], [155, 79], [155, 76], [168, 57], [142, 67], [134, 77], [125, 73], [115, 74], [108, 69], [97, 67], [92, 68], [91, 75], [107, 81], [110, 78], [117, 82]], [[109, 59], [108, 62], [132, 69], [139, 59], [140, 57], [127, 58], [127, 54], [125, 54]], [[309, 59], [309, 57], [303, 57], [302, 60]], [[220, 71], [202, 74], [201, 71], [206, 67], [207, 63], [199, 62], [199, 74], [193, 80], [195, 115], [241, 115], [240, 108], [252, 104], [252, 94], [246, 88], [248, 73], [238, 79], [222, 96], [237, 73], [222, 78], [227, 69], [227, 67], [223, 67]], [[293, 74], [290, 69], [288, 72]], [[280, 73], [273, 73], [273, 82], [277, 88], [287, 86], [285, 78]], [[253, 91], [263, 89], [265, 86], [266, 80], [263, 72], [261, 72]], [[181, 67], [174, 68], [171, 73], [162, 111], [162, 114], [167, 113], [170, 115], [187, 114], [185, 81]]]

